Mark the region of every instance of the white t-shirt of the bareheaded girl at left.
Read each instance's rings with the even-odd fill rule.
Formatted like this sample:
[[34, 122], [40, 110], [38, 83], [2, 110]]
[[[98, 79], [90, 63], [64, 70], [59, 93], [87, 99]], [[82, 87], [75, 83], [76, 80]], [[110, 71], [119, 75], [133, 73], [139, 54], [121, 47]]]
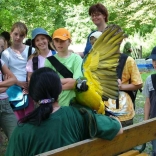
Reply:
[[[29, 46], [26, 46], [24, 51], [20, 54], [17, 54], [10, 47], [3, 51], [1, 59], [8, 66], [10, 71], [16, 76], [18, 81], [26, 81], [27, 71], [26, 64], [28, 60], [28, 49]], [[35, 51], [32, 48], [32, 53]]]

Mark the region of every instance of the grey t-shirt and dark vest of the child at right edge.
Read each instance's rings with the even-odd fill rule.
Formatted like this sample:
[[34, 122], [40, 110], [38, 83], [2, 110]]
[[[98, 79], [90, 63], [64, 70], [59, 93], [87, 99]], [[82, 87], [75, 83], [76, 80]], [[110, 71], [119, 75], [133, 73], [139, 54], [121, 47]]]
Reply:
[[156, 117], [156, 91], [153, 87], [151, 75], [146, 79], [142, 94], [150, 100], [149, 118]]

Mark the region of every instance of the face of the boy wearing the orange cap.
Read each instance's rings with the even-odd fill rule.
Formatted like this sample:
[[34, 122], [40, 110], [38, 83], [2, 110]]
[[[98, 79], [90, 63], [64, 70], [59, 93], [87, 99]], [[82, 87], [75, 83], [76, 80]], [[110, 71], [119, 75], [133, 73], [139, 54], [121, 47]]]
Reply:
[[68, 47], [71, 43], [71, 41], [68, 39], [68, 40], [61, 40], [59, 38], [55, 38], [54, 40], [54, 46], [57, 50], [57, 52], [59, 53], [66, 53], [68, 52]]

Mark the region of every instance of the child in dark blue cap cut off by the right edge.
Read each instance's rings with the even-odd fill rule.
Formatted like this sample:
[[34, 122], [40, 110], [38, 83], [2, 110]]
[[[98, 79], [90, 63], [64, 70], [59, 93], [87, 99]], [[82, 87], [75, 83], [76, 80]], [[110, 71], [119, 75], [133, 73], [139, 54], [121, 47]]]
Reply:
[[[154, 69], [156, 69], [156, 47], [153, 48], [151, 55], [147, 59], [152, 59]], [[154, 82], [155, 81], [155, 82]], [[149, 75], [146, 79], [143, 89], [143, 95], [146, 97], [144, 105], [144, 120], [156, 117], [156, 74]], [[156, 140], [152, 141], [153, 153], [156, 156]]]

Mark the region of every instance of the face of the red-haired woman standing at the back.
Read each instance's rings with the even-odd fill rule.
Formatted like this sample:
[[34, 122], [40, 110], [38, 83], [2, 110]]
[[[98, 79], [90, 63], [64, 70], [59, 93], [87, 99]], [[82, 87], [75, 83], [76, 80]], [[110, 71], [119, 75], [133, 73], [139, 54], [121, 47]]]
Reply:
[[91, 19], [96, 26], [103, 25], [103, 23], [105, 23], [105, 16], [100, 12], [92, 13]]

